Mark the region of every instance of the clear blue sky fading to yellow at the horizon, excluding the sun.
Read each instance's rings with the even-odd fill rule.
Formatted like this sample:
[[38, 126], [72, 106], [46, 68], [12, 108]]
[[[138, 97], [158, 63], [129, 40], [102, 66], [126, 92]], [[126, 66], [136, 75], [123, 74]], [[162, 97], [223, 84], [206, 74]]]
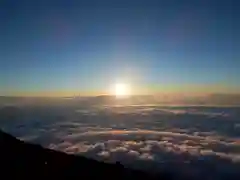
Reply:
[[0, 95], [239, 93], [237, 3], [1, 1]]

